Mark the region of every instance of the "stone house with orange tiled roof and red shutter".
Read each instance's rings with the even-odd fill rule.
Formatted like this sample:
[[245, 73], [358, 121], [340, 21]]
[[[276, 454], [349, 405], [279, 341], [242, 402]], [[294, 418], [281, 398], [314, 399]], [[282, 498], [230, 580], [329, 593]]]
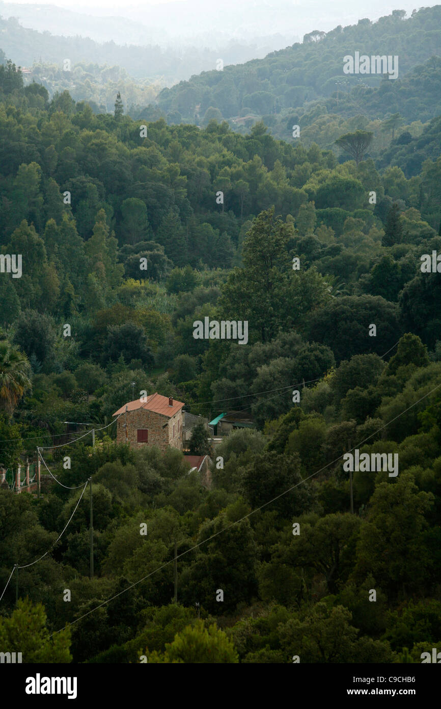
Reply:
[[[119, 416], [116, 430], [117, 443], [128, 443], [132, 448], [155, 445], [162, 452], [168, 447], [183, 449], [182, 401], [159, 393], [129, 401], [115, 411]], [[121, 415], [123, 414], [123, 415]]]

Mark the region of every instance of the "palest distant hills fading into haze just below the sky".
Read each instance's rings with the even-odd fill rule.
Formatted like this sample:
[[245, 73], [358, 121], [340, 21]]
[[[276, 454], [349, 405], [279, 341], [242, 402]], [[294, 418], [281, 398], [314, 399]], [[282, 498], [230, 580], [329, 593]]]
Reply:
[[[58, 10], [66, 26], [69, 19], [63, 9]], [[79, 32], [74, 32], [71, 25], [67, 25], [64, 35], [68, 33], [73, 36], [30, 29], [29, 25], [23, 26], [23, 21], [18, 21], [14, 16], [4, 17], [0, 5], [2, 48], [13, 62], [26, 67], [32, 67], [34, 62], [61, 67], [63, 60], [69, 57], [72, 65], [83, 62], [86, 65], [98, 64], [108, 67], [118, 65], [137, 79], [137, 82], [159, 82], [161, 86], [171, 86], [187, 79], [191, 74], [215, 67], [219, 56], [224, 57], [226, 64], [239, 64], [251, 57], [264, 57], [272, 48], [285, 46], [288, 42], [286, 40], [284, 43], [281, 35], [254, 36], [246, 40], [228, 38], [219, 33], [215, 42], [200, 41], [202, 38], [197, 37], [190, 43], [176, 42], [172, 38], [164, 38], [164, 33], [161, 34], [157, 30], [149, 33], [144, 28], [143, 31], [139, 23], [137, 38], [130, 42], [127, 41], [127, 26], [124, 20], [120, 18], [119, 23], [117, 18], [109, 20], [113, 21], [113, 28], [118, 26], [118, 36], [98, 42], [87, 35], [80, 36]], [[148, 14], [144, 20], [149, 21]], [[127, 24], [132, 30], [132, 23]], [[294, 39], [293, 35], [290, 37]]]

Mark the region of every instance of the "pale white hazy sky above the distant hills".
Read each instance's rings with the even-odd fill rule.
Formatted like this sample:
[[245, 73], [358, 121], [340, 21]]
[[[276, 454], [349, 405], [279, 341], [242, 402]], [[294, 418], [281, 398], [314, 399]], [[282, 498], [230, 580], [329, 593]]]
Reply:
[[[127, 40], [140, 45], [177, 41], [182, 45], [214, 47], [229, 41], [254, 43], [262, 38], [268, 53], [272, 48], [302, 41], [304, 34], [312, 30], [328, 32], [338, 25], [354, 25], [362, 18], [375, 21], [394, 9], [410, 16], [420, 2], [433, 7], [440, 0], [129, 0], [127, 4], [122, 0], [16, 0], [6, 3], [3, 13], [0, 0], [0, 14], [18, 16], [23, 26], [40, 32], [47, 29], [52, 34], [90, 36], [97, 41], [108, 40], [108, 30], [105, 23], [101, 25], [96, 19], [89, 25], [88, 17], [120, 16], [132, 23], [122, 26], [118, 36], [112, 36], [122, 45]], [[29, 13], [24, 7], [18, 9], [26, 4], [32, 6]], [[41, 13], [35, 13], [35, 6], [40, 6]], [[71, 22], [69, 15], [64, 18], [60, 11], [52, 13], [51, 6], [74, 13]], [[134, 32], [136, 26], [138, 35]]]

